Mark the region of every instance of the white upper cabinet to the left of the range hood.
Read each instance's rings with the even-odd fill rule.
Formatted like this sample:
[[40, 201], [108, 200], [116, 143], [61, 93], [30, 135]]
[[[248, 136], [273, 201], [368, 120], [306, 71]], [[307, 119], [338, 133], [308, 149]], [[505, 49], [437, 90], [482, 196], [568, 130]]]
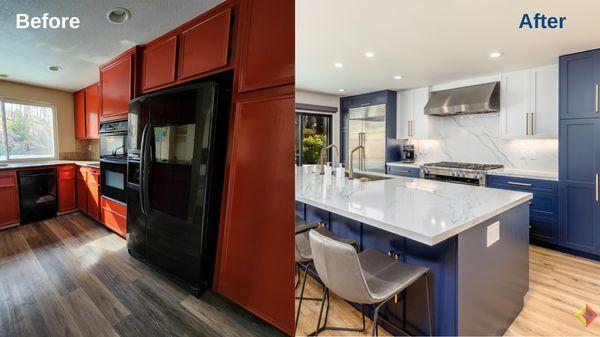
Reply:
[[429, 138], [429, 116], [425, 105], [429, 100], [429, 87], [398, 92], [396, 110], [396, 137], [398, 139]]

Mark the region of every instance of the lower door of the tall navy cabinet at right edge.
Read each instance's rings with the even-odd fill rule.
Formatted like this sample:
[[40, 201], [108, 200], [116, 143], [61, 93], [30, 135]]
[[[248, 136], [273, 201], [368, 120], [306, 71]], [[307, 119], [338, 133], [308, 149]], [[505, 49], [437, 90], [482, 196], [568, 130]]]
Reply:
[[560, 244], [600, 254], [600, 118], [560, 122]]

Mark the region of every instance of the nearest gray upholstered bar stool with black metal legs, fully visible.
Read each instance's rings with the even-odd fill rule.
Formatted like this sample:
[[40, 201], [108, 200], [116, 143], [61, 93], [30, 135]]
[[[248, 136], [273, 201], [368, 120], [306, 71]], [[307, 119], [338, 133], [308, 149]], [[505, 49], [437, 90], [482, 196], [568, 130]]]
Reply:
[[[375, 305], [373, 336], [378, 335], [377, 320], [381, 306], [425, 276], [429, 333], [433, 335], [428, 267], [400, 262], [377, 249], [367, 249], [357, 253], [352, 246], [332, 240], [316, 230], [309, 232], [309, 239], [317, 274], [325, 285], [323, 299], [329, 298], [331, 290], [347, 301], [361, 304], [363, 329], [364, 305]], [[329, 303], [329, 300], [327, 302]], [[323, 327], [320, 327], [324, 305], [325, 301], [321, 304], [315, 336], [323, 330], [332, 329], [327, 327], [329, 305]], [[341, 330], [341, 328], [335, 328], [335, 330]]]

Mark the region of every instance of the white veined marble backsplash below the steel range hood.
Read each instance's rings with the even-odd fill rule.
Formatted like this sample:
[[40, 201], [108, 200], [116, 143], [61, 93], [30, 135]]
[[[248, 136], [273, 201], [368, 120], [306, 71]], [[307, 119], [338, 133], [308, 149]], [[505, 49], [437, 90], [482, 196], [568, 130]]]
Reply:
[[429, 117], [430, 139], [410, 140], [417, 161], [502, 164], [558, 172], [557, 139], [502, 139], [500, 114]]

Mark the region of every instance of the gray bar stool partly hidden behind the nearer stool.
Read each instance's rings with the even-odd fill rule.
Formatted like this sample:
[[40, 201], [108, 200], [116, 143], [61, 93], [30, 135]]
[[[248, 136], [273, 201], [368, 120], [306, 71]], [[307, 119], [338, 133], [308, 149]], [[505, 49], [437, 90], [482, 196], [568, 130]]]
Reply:
[[[358, 249], [358, 244], [357, 244], [356, 240], [344, 239], [344, 238], [338, 237], [335, 234], [333, 234], [332, 232], [325, 229], [323, 227], [323, 224], [320, 224], [320, 223], [311, 224], [311, 223], [308, 223], [308, 222], [302, 220], [302, 218], [300, 218], [299, 216], [296, 216], [296, 232], [295, 232], [295, 239], [294, 239], [295, 255], [296, 255], [295, 256], [296, 271], [298, 274], [298, 281], [296, 282], [296, 287], [298, 287], [298, 284], [300, 282], [300, 271], [298, 269], [299, 266], [303, 270], [304, 277], [302, 280], [302, 287], [300, 288], [300, 296], [296, 297], [296, 299], [298, 300], [298, 311], [296, 312], [295, 329], [298, 329], [298, 319], [300, 318], [300, 309], [302, 309], [302, 301], [303, 300], [310, 300], [310, 301], [322, 301], [323, 300], [321, 298], [304, 297], [304, 289], [306, 287], [306, 278], [308, 276], [309, 267], [310, 267], [311, 263], [313, 262], [312, 252], [310, 249], [310, 241], [309, 241], [309, 237], [308, 237], [308, 233], [311, 229], [314, 229], [314, 230], [320, 232], [322, 235], [330, 238], [331, 240], [343, 242], [343, 243], [353, 247], [353, 249]], [[315, 279], [318, 282], [320, 282], [320, 280], [318, 280], [318, 277], [316, 277], [316, 275], [314, 275], [314, 276], [315, 276]], [[364, 321], [364, 317], [363, 317], [363, 321]]]

